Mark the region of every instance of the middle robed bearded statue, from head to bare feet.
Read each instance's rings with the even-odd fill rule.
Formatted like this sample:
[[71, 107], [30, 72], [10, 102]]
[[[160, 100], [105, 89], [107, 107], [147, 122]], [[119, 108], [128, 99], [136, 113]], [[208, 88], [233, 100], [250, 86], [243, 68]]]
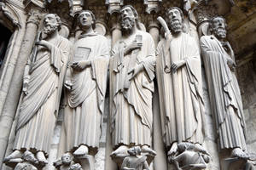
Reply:
[[143, 152], [155, 155], [151, 145], [152, 93], [154, 92], [154, 41], [145, 31], [138, 29], [135, 8], [120, 10], [122, 37], [113, 47], [113, 69], [110, 70], [112, 156], [127, 150], [127, 146], [140, 145]]

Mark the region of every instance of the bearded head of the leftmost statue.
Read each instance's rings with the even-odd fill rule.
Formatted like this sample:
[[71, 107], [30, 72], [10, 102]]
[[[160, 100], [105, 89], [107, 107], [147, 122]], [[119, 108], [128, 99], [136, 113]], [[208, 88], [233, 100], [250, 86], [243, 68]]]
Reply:
[[61, 30], [61, 18], [57, 14], [47, 14], [44, 16], [44, 34], [52, 34]]

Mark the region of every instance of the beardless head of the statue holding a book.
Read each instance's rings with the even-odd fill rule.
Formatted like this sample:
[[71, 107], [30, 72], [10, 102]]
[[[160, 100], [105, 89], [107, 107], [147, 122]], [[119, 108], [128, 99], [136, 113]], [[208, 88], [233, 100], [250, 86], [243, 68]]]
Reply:
[[96, 18], [95, 15], [90, 10], [82, 10], [79, 13], [79, 26], [81, 29], [88, 29], [92, 27], [95, 29], [96, 27]]

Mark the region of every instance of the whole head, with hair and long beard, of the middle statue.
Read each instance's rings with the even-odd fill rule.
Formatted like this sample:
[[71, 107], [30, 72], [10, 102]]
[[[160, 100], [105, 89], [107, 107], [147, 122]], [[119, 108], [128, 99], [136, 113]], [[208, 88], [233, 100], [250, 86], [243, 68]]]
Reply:
[[134, 26], [138, 26], [137, 10], [131, 5], [125, 5], [120, 9], [122, 31], [129, 32]]

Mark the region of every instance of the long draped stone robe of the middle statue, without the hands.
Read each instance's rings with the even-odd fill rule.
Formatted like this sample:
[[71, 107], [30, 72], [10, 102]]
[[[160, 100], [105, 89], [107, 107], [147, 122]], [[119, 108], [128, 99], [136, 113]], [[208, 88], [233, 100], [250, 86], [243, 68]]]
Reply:
[[[142, 35], [143, 47], [124, 55], [125, 46]], [[113, 145], [136, 144], [151, 145], [152, 131], [152, 93], [154, 92], [154, 41], [144, 31], [137, 31], [128, 39], [121, 39], [112, 50], [113, 70], [110, 70], [111, 95], [111, 132]], [[128, 74], [137, 65], [143, 71], [131, 79]]]

